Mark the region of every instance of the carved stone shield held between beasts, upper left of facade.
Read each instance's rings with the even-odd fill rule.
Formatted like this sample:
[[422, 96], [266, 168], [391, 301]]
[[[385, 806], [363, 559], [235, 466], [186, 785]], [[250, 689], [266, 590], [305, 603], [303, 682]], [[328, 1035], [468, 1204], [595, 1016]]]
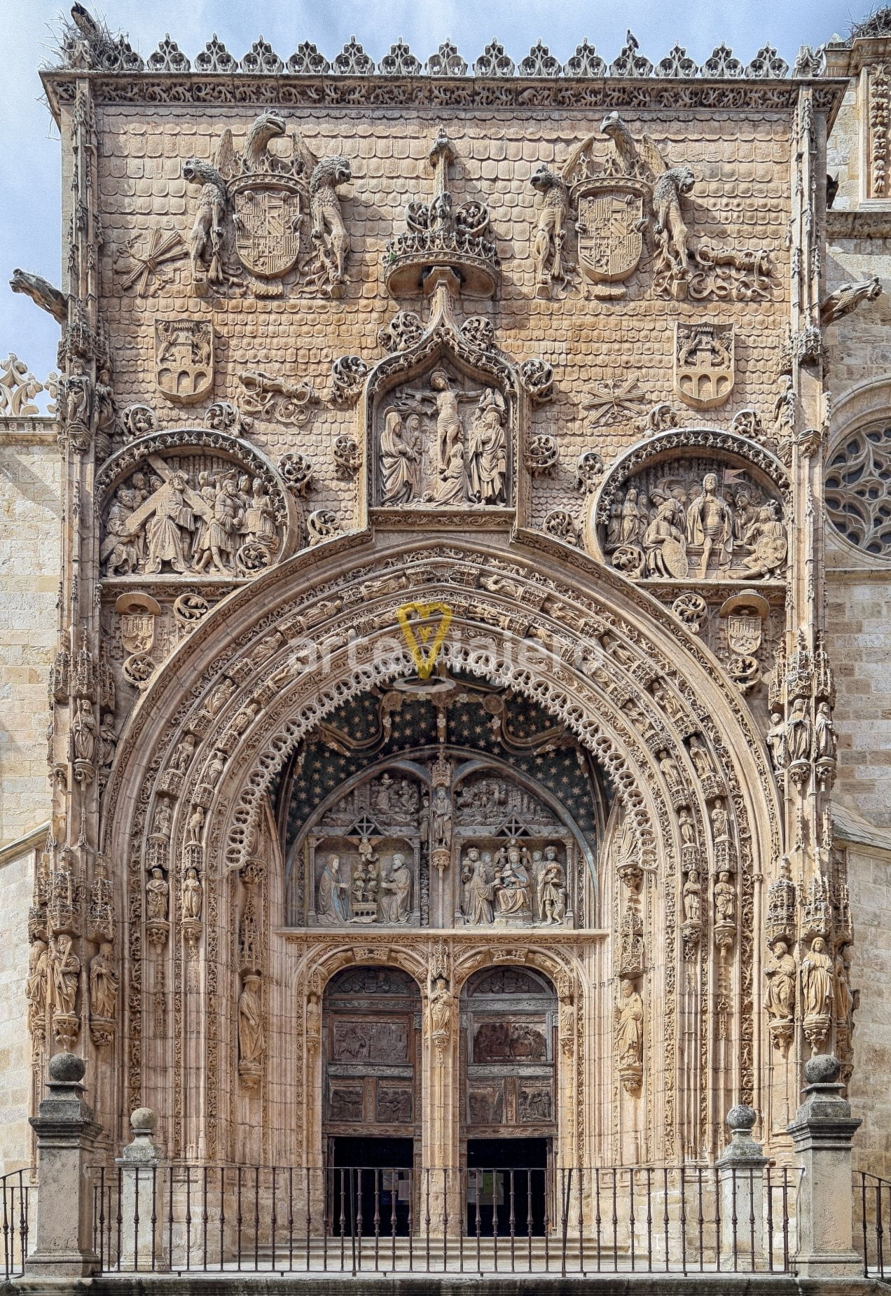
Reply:
[[300, 254], [300, 187], [284, 176], [263, 174], [245, 176], [229, 188], [241, 263], [259, 279], [281, 279]]

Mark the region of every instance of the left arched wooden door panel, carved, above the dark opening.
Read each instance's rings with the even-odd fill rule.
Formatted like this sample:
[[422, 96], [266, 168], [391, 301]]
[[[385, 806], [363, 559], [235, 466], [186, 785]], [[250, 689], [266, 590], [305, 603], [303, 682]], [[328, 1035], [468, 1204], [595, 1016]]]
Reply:
[[325, 991], [326, 1137], [414, 1138], [421, 997], [395, 968], [347, 968]]

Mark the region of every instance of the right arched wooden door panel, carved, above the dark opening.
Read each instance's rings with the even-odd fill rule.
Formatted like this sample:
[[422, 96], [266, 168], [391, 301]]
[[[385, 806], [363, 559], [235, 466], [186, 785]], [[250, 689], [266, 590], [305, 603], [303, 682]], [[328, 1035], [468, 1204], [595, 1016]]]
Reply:
[[557, 997], [527, 968], [484, 968], [461, 997], [462, 1135], [553, 1138], [557, 1133]]

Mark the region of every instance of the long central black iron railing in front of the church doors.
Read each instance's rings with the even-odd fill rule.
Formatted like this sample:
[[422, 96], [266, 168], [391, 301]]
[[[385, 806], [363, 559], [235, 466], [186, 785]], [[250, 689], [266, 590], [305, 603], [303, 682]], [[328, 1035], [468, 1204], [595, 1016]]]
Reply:
[[795, 1169], [97, 1168], [104, 1273], [787, 1273]]

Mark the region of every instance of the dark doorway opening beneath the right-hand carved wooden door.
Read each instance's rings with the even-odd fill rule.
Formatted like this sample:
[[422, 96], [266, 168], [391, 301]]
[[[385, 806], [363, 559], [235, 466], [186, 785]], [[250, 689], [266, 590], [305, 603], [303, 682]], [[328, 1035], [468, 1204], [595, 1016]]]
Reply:
[[548, 1218], [547, 1138], [468, 1139], [470, 1236], [543, 1238]]

